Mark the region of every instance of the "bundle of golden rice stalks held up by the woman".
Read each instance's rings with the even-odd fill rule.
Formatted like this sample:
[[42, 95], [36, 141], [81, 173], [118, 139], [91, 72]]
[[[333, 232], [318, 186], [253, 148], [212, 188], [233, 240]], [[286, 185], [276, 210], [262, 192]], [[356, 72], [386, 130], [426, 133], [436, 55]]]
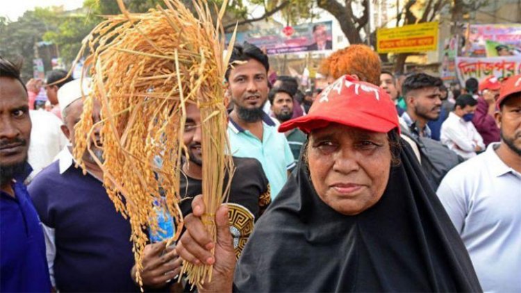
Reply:
[[[129, 218], [136, 278], [142, 285], [142, 251], [148, 241], [144, 231], [158, 229], [153, 203], [160, 199], [160, 188], [165, 208], [176, 220], [173, 241], [182, 230], [178, 202], [187, 103], [201, 110], [201, 147], [208, 162], [203, 165], [205, 223], [215, 239], [215, 210], [229, 191], [224, 174], [233, 172], [231, 157], [225, 155], [229, 151], [222, 85], [229, 59], [222, 58], [226, 1], [215, 24], [204, 1], [194, 3], [197, 17], [179, 0], [165, 0], [166, 9], [157, 6], [143, 14], [131, 14], [122, 0], [118, 3], [122, 15], [107, 17], [94, 28], [78, 54], [90, 54], [85, 67], [90, 68], [92, 94], [83, 97], [74, 158], [85, 170], [82, 156], [88, 151], [103, 169], [108, 196]], [[101, 122], [93, 125], [94, 104], [101, 105]], [[99, 129], [99, 137], [94, 137], [94, 129]], [[102, 159], [93, 149], [103, 151]], [[184, 263], [183, 270], [192, 284], [211, 280], [210, 266]]]

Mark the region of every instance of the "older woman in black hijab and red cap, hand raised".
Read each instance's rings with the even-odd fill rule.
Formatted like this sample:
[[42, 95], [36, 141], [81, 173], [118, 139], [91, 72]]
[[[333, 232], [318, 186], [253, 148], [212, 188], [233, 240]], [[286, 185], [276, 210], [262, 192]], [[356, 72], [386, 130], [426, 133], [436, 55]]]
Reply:
[[465, 246], [399, 140], [385, 92], [343, 76], [279, 131], [295, 127], [309, 133], [304, 158], [236, 267], [226, 208], [217, 211], [213, 244], [199, 219], [204, 205], [194, 201], [177, 250], [214, 264], [212, 282], [199, 291], [481, 291]]

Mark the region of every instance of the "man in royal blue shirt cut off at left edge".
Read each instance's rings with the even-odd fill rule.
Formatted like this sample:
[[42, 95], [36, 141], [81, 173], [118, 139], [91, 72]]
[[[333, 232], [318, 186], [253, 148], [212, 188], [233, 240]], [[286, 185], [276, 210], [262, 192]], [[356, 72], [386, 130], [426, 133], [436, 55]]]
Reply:
[[0, 58], [0, 292], [49, 292], [45, 244], [24, 180], [31, 173], [27, 90]]

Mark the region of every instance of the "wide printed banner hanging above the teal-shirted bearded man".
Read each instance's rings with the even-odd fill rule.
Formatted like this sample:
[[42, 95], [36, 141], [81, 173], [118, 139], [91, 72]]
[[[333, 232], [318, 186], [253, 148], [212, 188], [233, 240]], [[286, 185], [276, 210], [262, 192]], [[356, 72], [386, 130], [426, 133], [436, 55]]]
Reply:
[[[333, 22], [316, 22], [284, 28], [245, 31], [237, 33], [235, 43], [249, 42], [265, 49], [268, 55], [331, 50], [333, 49], [332, 26]], [[231, 33], [227, 33], [226, 42], [230, 39]]]

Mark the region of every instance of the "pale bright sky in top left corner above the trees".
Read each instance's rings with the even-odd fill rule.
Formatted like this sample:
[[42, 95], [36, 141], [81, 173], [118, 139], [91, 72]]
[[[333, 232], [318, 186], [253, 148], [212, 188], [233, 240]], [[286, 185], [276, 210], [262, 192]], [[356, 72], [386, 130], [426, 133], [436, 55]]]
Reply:
[[63, 6], [65, 10], [71, 10], [83, 6], [83, 0], [1, 0], [1, 2], [0, 16], [8, 17], [13, 22], [24, 12], [35, 7]]

